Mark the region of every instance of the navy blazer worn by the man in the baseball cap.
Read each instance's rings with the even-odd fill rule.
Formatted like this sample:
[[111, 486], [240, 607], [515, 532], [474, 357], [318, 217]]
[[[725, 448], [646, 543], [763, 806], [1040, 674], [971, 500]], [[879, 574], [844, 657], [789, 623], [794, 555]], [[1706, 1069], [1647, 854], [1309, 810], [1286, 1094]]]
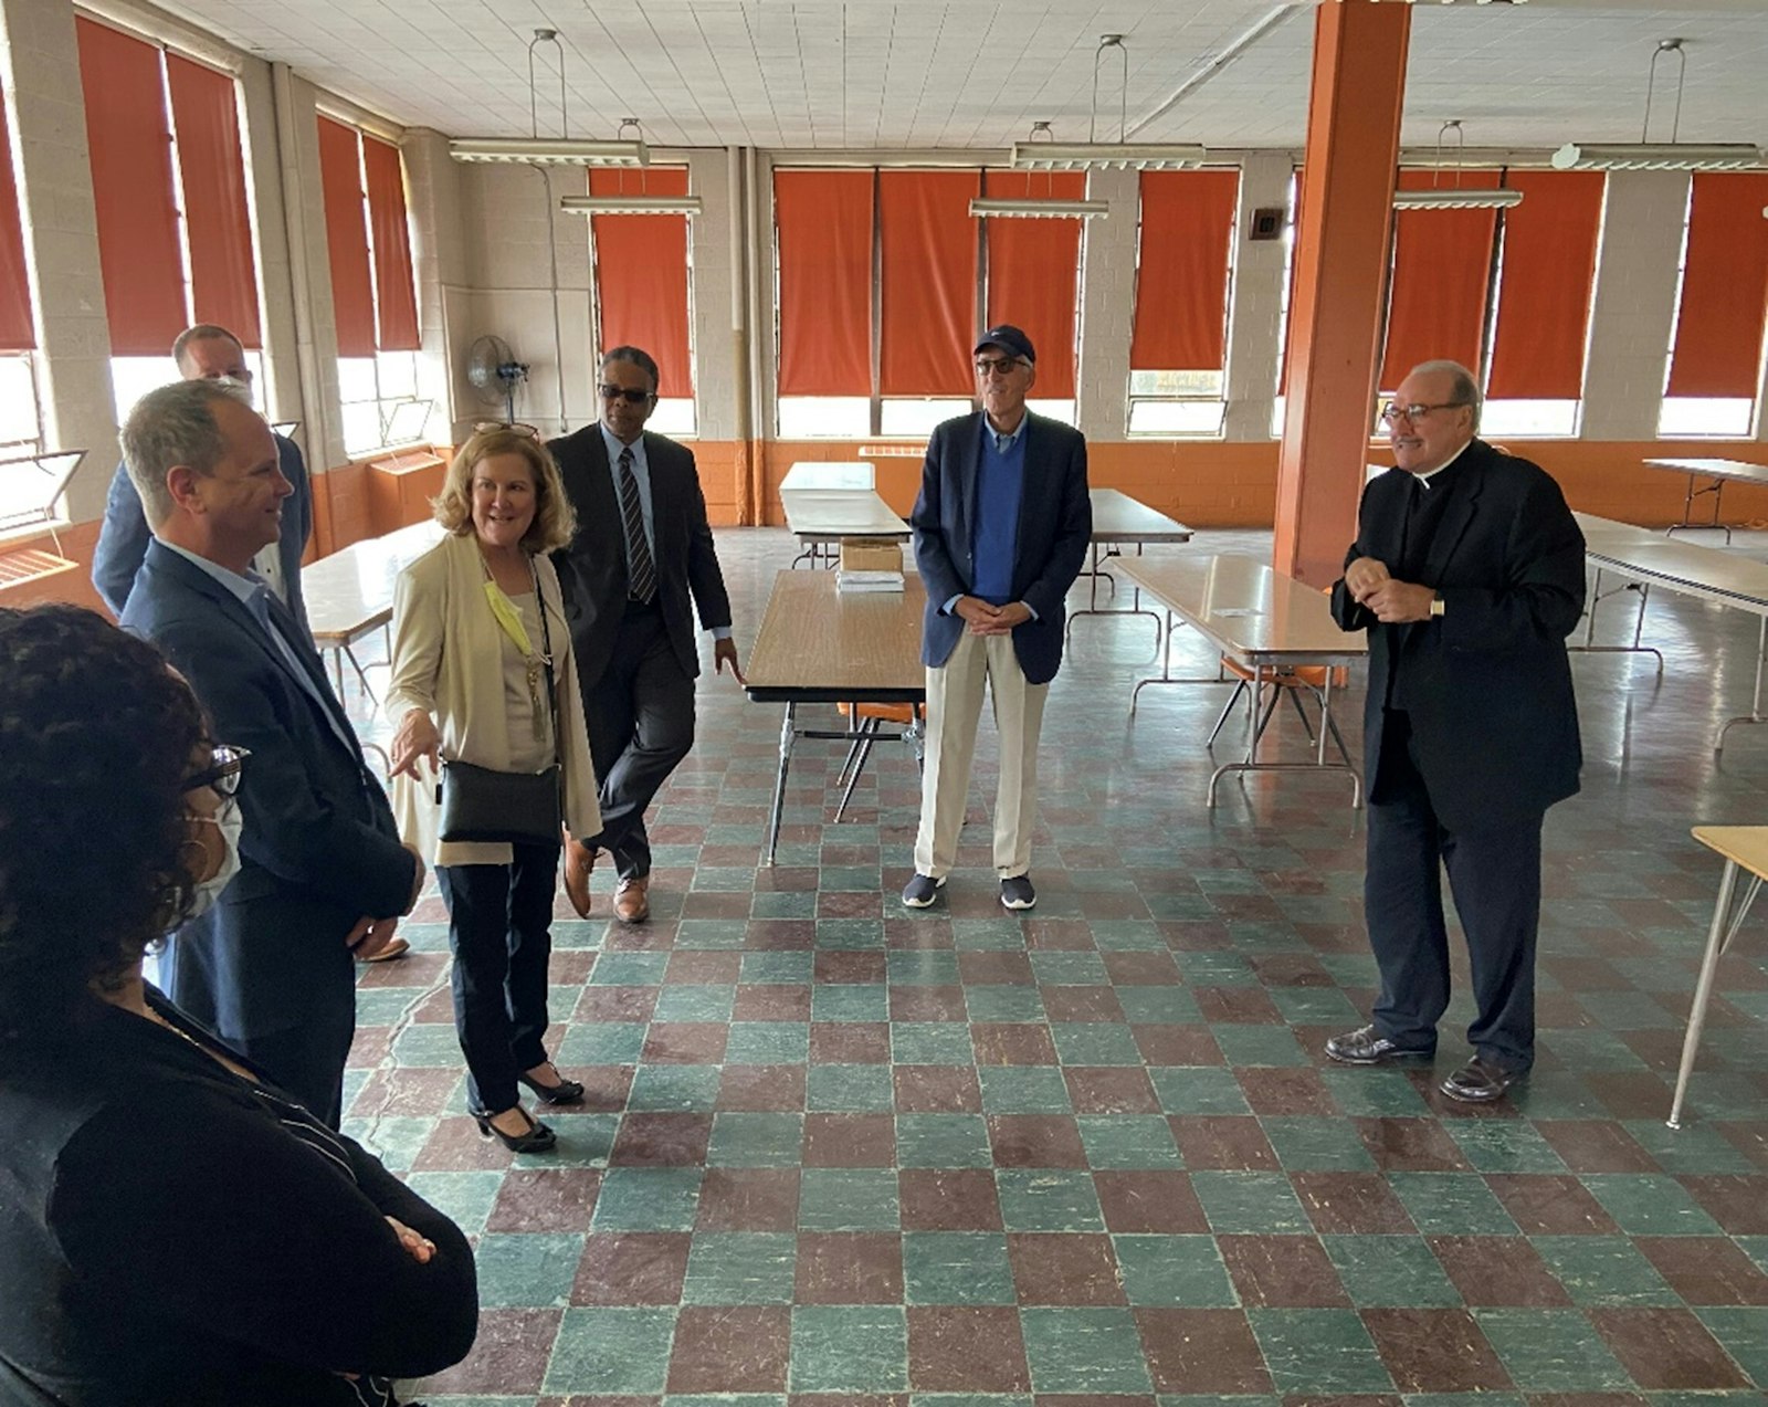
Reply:
[[[1087, 560], [1093, 500], [1087, 497], [1087, 442], [1073, 426], [1025, 412], [1025, 486], [1018, 498], [1013, 596], [1036, 612], [1013, 631], [1013, 654], [1031, 684], [1048, 684], [1063, 663], [1068, 589]], [[921, 663], [939, 668], [951, 658], [964, 620], [941, 613], [953, 596], [969, 596], [976, 580], [976, 474], [983, 412], [958, 415], [934, 430], [921, 461], [921, 493], [909, 514], [914, 560], [926, 583]]]

